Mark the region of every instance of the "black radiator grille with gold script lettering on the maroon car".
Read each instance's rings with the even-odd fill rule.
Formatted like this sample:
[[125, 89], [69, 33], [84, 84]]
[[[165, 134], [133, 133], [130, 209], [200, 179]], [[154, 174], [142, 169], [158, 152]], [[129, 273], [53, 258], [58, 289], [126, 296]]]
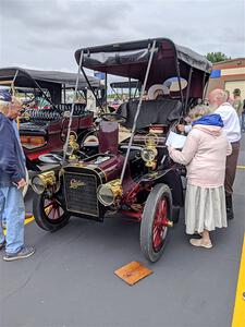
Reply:
[[97, 180], [94, 174], [66, 172], [64, 187], [69, 211], [98, 217]]

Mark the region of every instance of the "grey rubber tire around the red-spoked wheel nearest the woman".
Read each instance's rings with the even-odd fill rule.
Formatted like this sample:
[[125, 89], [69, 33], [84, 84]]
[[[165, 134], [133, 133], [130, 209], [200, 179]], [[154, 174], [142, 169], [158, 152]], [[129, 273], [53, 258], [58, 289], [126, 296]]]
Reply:
[[164, 250], [166, 239], [168, 235], [168, 227], [166, 227], [162, 245], [159, 251], [155, 251], [154, 242], [154, 221], [158, 203], [161, 198], [167, 199], [168, 219], [172, 220], [172, 194], [168, 185], [157, 184], [147, 197], [140, 223], [140, 249], [145, 257], [155, 263], [157, 262]]

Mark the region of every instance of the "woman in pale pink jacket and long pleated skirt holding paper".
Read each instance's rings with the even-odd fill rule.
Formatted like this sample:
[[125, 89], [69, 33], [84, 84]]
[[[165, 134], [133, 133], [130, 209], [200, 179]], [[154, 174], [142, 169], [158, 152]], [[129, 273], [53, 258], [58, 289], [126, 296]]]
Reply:
[[193, 123], [182, 150], [169, 147], [170, 157], [187, 169], [186, 233], [198, 232], [201, 238], [189, 242], [206, 249], [212, 247], [209, 232], [228, 226], [223, 184], [232, 148], [222, 128], [219, 114], [205, 116]]

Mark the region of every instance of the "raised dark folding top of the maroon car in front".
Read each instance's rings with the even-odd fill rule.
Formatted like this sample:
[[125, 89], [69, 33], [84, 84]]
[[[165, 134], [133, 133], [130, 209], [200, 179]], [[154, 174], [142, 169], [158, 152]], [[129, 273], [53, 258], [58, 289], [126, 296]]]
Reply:
[[143, 83], [150, 56], [149, 49], [155, 40], [156, 49], [146, 89], [154, 84], [162, 84], [168, 78], [177, 76], [179, 71], [180, 76], [188, 81], [191, 70], [193, 70], [189, 97], [201, 98], [211, 73], [211, 62], [204, 56], [175, 45], [168, 38], [82, 48], [75, 51], [75, 59], [79, 63], [81, 53], [83, 53], [82, 66], [84, 68]]

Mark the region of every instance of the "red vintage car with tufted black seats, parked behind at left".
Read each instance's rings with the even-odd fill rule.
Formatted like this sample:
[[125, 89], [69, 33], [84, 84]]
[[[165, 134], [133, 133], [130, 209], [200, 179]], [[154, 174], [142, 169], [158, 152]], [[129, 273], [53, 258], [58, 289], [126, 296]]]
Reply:
[[[40, 156], [48, 161], [48, 155], [54, 153], [59, 159], [63, 150], [72, 109], [72, 104], [65, 102], [65, 94], [75, 88], [76, 74], [2, 68], [0, 83], [10, 86], [24, 101], [25, 109], [20, 124], [21, 142], [27, 169], [40, 171], [44, 165]], [[101, 88], [98, 78], [87, 76], [86, 81], [79, 76], [77, 89], [84, 101], [75, 104], [72, 120], [72, 130], [78, 135], [78, 141], [94, 126], [94, 113], [85, 110], [88, 83], [93, 92]]]

